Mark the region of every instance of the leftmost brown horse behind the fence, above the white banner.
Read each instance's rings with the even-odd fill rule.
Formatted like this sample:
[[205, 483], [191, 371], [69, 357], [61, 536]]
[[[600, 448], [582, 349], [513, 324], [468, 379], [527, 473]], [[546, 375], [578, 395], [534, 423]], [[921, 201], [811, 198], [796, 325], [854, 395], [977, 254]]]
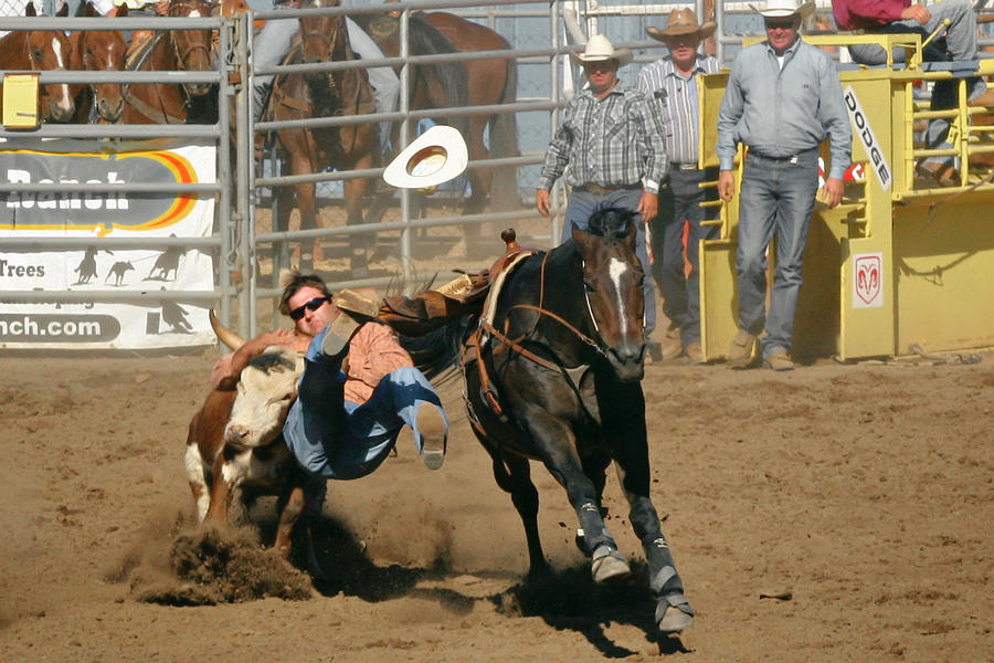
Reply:
[[[35, 17], [34, 4], [24, 8], [25, 17]], [[68, 15], [63, 4], [55, 15]], [[61, 30], [15, 30], [0, 39], [0, 70], [46, 72], [68, 69], [72, 46]], [[67, 122], [76, 107], [70, 86], [46, 84], [41, 86], [41, 115], [45, 122]], [[0, 101], [2, 110], [2, 101]]]

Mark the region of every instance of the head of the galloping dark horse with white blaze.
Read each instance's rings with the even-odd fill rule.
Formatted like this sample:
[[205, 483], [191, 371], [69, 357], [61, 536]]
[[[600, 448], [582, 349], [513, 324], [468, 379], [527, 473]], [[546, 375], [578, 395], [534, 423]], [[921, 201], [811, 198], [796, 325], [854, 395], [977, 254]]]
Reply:
[[598, 340], [617, 377], [641, 380], [645, 371], [645, 273], [635, 255], [635, 214], [607, 209], [590, 218], [588, 231], [573, 227], [583, 262], [583, 290]]

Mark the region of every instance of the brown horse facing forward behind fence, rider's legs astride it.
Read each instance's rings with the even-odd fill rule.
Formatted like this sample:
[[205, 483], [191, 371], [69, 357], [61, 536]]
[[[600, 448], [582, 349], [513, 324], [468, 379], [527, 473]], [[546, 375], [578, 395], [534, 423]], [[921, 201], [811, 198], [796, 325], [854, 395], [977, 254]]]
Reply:
[[[335, 7], [338, 0], [305, 0], [303, 9]], [[347, 62], [356, 60], [349, 44], [345, 18], [315, 15], [300, 19], [302, 45], [289, 56], [290, 63]], [[267, 118], [274, 120], [306, 119], [373, 113], [373, 94], [366, 70], [349, 69], [308, 74], [281, 74], [273, 83]], [[282, 129], [276, 131], [282, 158], [292, 175], [320, 172], [326, 167], [339, 170], [373, 168], [379, 165], [379, 140], [373, 122], [338, 127]], [[362, 198], [369, 189], [367, 179], [345, 182], [347, 223], [362, 223]], [[317, 228], [315, 185], [303, 182], [294, 187], [300, 228]], [[320, 240], [313, 244], [314, 260], [321, 260]], [[352, 241], [352, 269], [361, 274], [366, 269], [367, 243]], [[307, 255], [303, 259], [306, 261]]]

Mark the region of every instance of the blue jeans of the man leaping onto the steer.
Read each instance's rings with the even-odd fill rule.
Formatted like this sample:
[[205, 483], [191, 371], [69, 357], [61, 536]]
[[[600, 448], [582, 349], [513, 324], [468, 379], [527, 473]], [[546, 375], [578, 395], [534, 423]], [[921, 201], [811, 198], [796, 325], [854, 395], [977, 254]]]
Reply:
[[[421, 453], [423, 440], [416, 422], [422, 407], [438, 409], [447, 434], [442, 401], [416, 368], [399, 368], [384, 376], [364, 403], [343, 400], [341, 357], [321, 355], [324, 337], [321, 333], [310, 344], [300, 393], [283, 428], [287, 446], [305, 470], [326, 478], [366, 476], [387, 459], [404, 424], [414, 431]], [[305, 379], [315, 378], [320, 381], [318, 390], [303, 388]]]

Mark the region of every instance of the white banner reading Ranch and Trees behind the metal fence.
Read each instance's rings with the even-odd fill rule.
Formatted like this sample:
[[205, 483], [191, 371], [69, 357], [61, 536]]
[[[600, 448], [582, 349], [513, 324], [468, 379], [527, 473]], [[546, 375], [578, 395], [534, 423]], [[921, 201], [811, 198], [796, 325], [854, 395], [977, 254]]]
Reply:
[[[210, 236], [212, 193], [80, 193], [72, 185], [214, 182], [215, 152], [212, 144], [0, 143], [3, 181], [65, 185], [57, 193], [0, 192], [0, 347], [138, 349], [214, 343], [207, 315], [210, 302], [22, 303], [3, 297], [3, 292], [213, 290], [208, 252], [101, 248], [105, 238]], [[93, 239], [93, 246], [31, 250], [3, 242], [81, 236]]]

